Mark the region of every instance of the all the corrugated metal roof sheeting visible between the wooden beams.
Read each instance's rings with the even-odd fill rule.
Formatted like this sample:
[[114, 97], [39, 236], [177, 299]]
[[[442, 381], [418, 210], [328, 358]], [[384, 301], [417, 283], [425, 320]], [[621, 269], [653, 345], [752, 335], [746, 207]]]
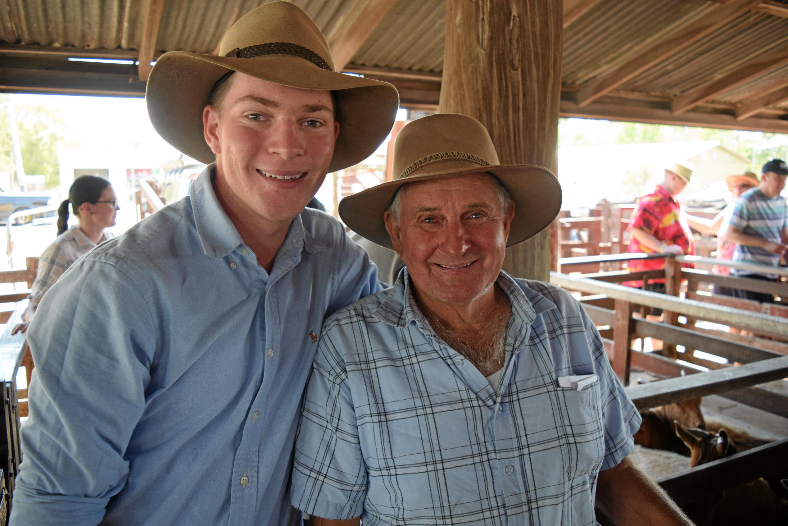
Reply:
[[[165, 0], [156, 48], [210, 53], [236, 7], [237, 17], [242, 17], [271, 1]], [[351, 9], [359, 9], [358, 0], [291, 1], [312, 17], [327, 38]], [[788, 0], [777, 3], [788, 5]], [[0, 42], [136, 50], [145, 5], [146, 0], [0, 0]], [[719, 6], [719, 0], [599, 0], [564, 31], [563, 88], [576, 91]], [[444, 19], [445, 0], [396, 0], [351, 64], [440, 73]], [[745, 13], [616, 89], [626, 91], [629, 99], [653, 95], [665, 102], [784, 42], [788, 42], [788, 18]], [[781, 82], [788, 85], [788, 67], [730, 89], [713, 102], [732, 107]], [[615, 90], [611, 95], [615, 97]]]

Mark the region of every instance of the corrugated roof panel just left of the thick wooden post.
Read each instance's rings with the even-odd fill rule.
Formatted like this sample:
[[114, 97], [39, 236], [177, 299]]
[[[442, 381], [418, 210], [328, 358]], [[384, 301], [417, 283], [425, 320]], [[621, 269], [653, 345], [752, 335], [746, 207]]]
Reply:
[[357, 65], [440, 71], [445, 44], [444, 0], [398, 0], [353, 57]]

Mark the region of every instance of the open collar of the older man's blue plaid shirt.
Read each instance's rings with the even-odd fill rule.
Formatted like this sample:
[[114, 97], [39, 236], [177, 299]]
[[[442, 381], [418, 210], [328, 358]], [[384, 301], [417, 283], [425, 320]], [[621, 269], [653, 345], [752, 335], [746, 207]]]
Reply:
[[[526, 325], [533, 323], [536, 316], [542, 312], [556, 308], [556, 304], [547, 297], [530, 289], [524, 283], [515, 281], [515, 278], [512, 278], [504, 270], [498, 274], [496, 283], [507, 295], [511, 303], [512, 314], [522, 319]], [[413, 297], [407, 267], [400, 272], [392, 288], [388, 289], [385, 300], [376, 309], [374, 315], [389, 325], [405, 327], [408, 323], [414, 322], [422, 333], [433, 333], [432, 327], [429, 326]]]

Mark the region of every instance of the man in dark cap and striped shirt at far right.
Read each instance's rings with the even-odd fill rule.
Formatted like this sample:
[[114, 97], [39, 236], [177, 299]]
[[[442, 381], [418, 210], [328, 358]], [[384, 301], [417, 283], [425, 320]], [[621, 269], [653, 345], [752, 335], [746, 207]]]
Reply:
[[[780, 196], [786, 185], [788, 165], [771, 159], [761, 170], [760, 185], [742, 194], [736, 201], [727, 229], [727, 238], [736, 243], [733, 261], [779, 267], [788, 249], [786, 200]], [[733, 269], [735, 276], [775, 281], [777, 274], [760, 274], [752, 270]], [[734, 296], [771, 303], [768, 293], [734, 289]]]

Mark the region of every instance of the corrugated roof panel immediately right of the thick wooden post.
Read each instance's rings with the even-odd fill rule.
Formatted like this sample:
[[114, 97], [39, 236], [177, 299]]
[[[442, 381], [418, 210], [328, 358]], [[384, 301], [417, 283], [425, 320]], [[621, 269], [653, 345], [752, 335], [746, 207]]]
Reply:
[[602, 0], [564, 32], [563, 84], [585, 84], [715, 6], [688, 0]]

